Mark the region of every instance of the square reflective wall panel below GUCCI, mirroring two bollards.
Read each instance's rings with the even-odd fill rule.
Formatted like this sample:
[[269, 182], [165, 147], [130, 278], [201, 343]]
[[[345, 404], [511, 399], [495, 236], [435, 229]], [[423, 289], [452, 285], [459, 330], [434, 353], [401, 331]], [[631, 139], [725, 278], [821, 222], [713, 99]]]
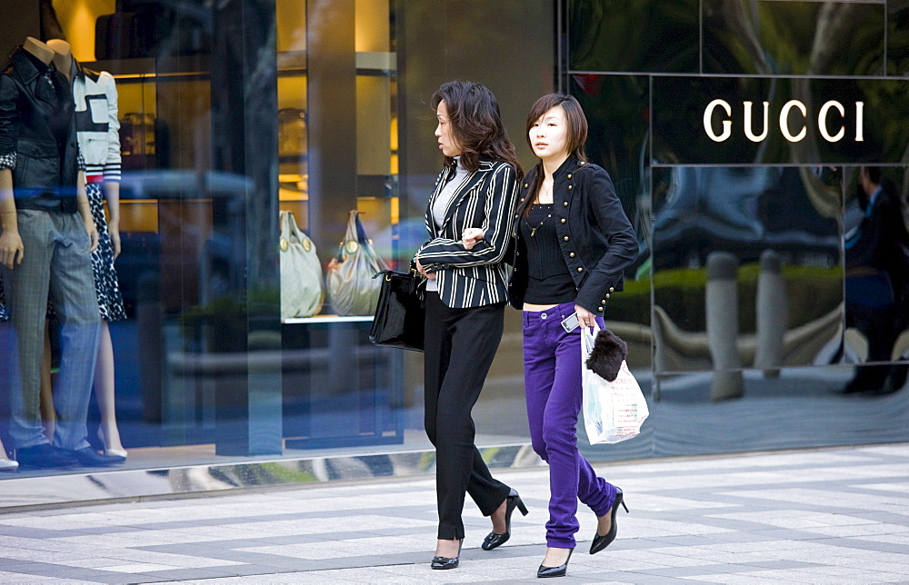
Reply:
[[[842, 320], [841, 171], [654, 169], [654, 369], [773, 375], [829, 360]], [[657, 188], [656, 185], [659, 185]]]

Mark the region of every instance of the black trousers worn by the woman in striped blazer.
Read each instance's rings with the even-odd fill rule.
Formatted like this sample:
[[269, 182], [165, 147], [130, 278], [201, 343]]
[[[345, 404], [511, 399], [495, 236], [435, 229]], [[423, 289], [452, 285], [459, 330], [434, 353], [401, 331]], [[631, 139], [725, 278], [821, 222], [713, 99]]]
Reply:
[[503, 329], [504, 302], [452, 309], [426, 293], [425, 425], [435, 445], [440, 539], [464, 538], [464, 493], [489, 516], [510, 491], [477, 451], [471, 418]]

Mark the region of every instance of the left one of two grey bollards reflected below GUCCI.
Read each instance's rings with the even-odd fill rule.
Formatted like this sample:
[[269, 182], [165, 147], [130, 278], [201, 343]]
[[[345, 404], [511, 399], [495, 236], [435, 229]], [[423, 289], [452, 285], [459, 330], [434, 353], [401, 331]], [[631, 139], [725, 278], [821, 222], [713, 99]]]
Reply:
[[714, 361], [710, 399], [721, 401], [744, 394], [742, 359], [738, 352], [738, 259], [731, 253], [707, 256], [707, 342]]

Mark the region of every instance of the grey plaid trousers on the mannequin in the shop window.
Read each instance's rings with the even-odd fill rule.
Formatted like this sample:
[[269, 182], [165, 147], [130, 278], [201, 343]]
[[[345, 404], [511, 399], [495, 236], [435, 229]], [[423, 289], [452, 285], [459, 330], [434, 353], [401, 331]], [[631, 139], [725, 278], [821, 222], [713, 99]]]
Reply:
[[60, 374], [54, 389], [55, 446], [84, 449], [88, 402], [95, 375], [101, 316], [92, 275], [85, 224], [78, 213], [19, 210], [19, 235], [25, 254], [4, 283], [12, 331], [7, 378], [9, 434], [16, 448], [48, 442], [41, 423], [41, 358], [45, 347], [47, 299], [60, 320]]

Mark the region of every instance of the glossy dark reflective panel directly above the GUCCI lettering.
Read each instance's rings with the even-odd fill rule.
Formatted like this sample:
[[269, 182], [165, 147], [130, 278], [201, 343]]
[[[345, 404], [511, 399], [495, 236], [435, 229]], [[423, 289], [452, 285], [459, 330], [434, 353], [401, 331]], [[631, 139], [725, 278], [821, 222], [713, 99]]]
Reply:
[[704, 1], [705, 74], [884, 74], [884, 4]]

